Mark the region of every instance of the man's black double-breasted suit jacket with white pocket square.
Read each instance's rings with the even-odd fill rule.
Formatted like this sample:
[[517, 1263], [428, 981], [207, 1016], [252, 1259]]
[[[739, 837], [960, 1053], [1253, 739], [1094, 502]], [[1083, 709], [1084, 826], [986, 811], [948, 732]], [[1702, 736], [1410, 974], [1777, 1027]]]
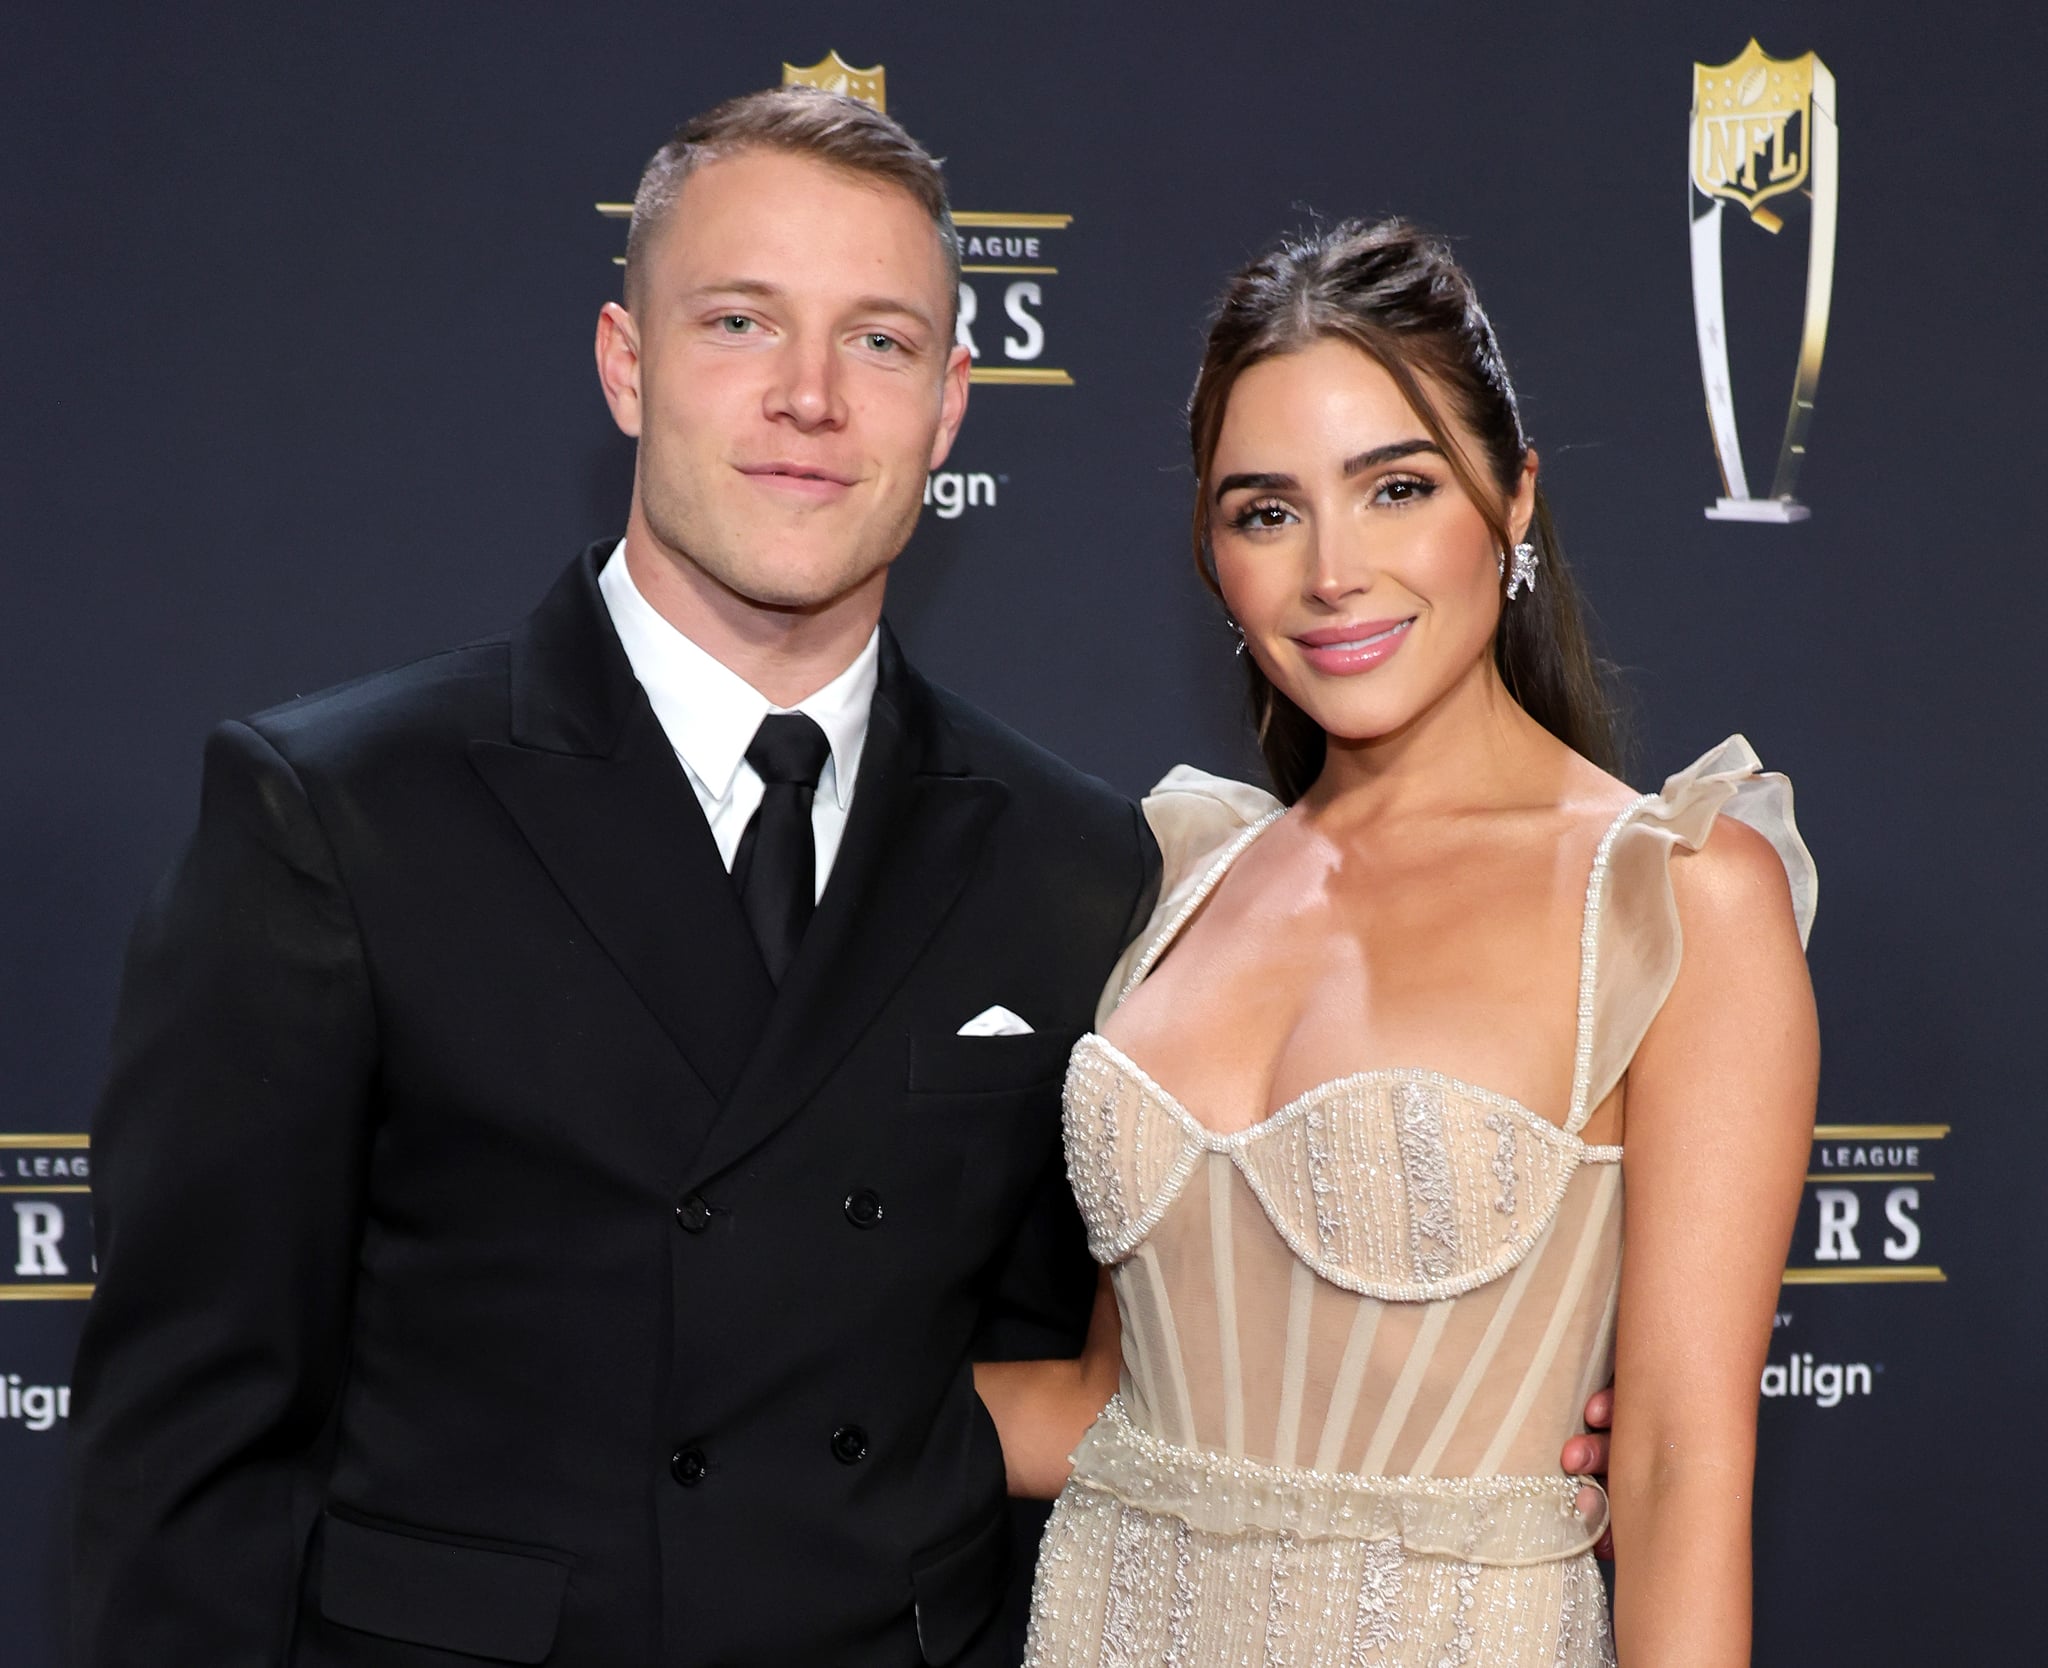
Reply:
[[[883, 641], [776, 992], [588, 551], [209, 742], [94, 1125], [78, 1668], [993, 1664], [1135, 807]], [[1001, 1002], [1030, 1037], [958, 1037]]]

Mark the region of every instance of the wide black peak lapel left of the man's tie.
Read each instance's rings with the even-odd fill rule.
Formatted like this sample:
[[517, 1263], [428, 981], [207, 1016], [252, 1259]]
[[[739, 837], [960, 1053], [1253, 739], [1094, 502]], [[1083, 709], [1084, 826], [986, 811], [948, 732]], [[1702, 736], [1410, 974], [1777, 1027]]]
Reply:
[[[469, 758], [721, 1102], [774, 986], [711, 826], [612, 631], [594, 545], [512, 639], [512, 740]], [[858, 803], [858, 801], [856, 801]]]

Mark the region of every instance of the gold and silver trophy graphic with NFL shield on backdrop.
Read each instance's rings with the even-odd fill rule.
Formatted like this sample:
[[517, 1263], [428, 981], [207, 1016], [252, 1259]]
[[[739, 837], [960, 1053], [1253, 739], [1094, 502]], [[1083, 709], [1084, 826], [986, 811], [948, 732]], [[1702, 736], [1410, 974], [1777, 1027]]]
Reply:
[[[1706, 420], [1722, 484], [1722, 496], [1706, 508], [1708, 520], [1788, 523], [1810, 514], [1794, 496], [1794, 486], [1806, 457], [1806, 428], [1827, 344], [1827, 305], [1835, 287], [1839, 164], [1835, 76], [1817, 53], [1776, 59], [1751, 39], [1729, 64], [1692, 66], [1692, 318], [1700, 332], [1700, 379], [1706, 383]], [[1778, 236], [1784, 219], [1765, 205], [1794, 191], [1810, 203], [1806, 311], [1778, 473], [1769, 496], [1757, 498], [1749, 490], [1735, 428], [1720, 227], [1735, 203], [1749, 211], [1751, 225]]]

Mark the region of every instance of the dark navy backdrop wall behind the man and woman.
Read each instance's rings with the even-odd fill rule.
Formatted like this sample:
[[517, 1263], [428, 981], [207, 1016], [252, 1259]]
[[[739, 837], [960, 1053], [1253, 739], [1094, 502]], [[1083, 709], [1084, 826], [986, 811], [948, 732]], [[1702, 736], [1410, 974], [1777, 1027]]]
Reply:
[[[1681, 217], [1690, 64], [1749, 35], [1817, 49], [1839, 82], [1798, 527], [1700, 514], [1718, 484]], [[1397, 209], [1458, 240], [1628, 668], [1636, 775], [1741, 727], [1798, 783], [1827, 877], [1823, 1121], [1950, 1131], [1892, 1160], [1917, 1178], [1909, 1262], [1944, 1281], [1786, 1287], [1757, 1660], [1966, 1660], [2003, 1637], [2040, 1535], [2021, 1385], [2048, 1367], [2036, 8], [16, 0], [0, 1658], [59, 1660], [59, 1389], [90, 1281], [66, 1189], [121, 941], [190, 824], [203, 734], [496, 629], [621, 527], [631, 451], [590, 332], [623, 240], [594, 203], [631, 195], [676, 119], [827, 47], [887, 66], [958, 207], [1073, 217], [1018, 301], [1034, 359], [1014, 279], [971, 277], [983, 363], [1073, 381], [975, 389], [948, 467], [989, 482], [928, 512], [893, 615], [928, 672], [1130, 791], [1247, 756], [1182, 533], [1206, 299], [1309, 211]], [[1749, 232], [1731, 223], [1731, 283], [1796, 281], [1796, 254], [1733, 248]], [[1751, 447], [1790, 381], [1757, 342], [1737, 336]], [[1837, 1160], [1817, 1145], [1817, 1174]], [[1817, 1262], [1817, 1199], [1796, 1264], [1884, 1264], [1888, 1195], [1849, 1193], [1862, 1260]], [[1868, 1373], [1823, 1406], [1802, 1361]]]

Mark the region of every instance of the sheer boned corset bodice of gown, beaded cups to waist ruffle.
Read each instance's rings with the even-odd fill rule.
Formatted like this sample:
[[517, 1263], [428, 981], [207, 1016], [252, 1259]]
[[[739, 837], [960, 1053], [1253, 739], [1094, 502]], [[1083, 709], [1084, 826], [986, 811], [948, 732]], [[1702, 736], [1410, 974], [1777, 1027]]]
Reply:
[[[1556, 1455], [1612, 1365], [1620, 1150], [1425, 1072], [1327, 1084], [1219, 1137], [1090, 1037], [1067, 1158], [1124, 1330], [1116, 1418], [1075, 1482], [1200, 1510], [1208, 1461], [1176, 1455], [1210, 1455], [1278, 1467], [1262, 1488], [1294, 1490], [1305, 1520], [1370, 1523], [1366, 1539], [1427, 1525], [1460, 1557], [1516, 1561], [1597, 1537]], [[1337, 1502], [1333, 1477], [1364, 1494]]]

